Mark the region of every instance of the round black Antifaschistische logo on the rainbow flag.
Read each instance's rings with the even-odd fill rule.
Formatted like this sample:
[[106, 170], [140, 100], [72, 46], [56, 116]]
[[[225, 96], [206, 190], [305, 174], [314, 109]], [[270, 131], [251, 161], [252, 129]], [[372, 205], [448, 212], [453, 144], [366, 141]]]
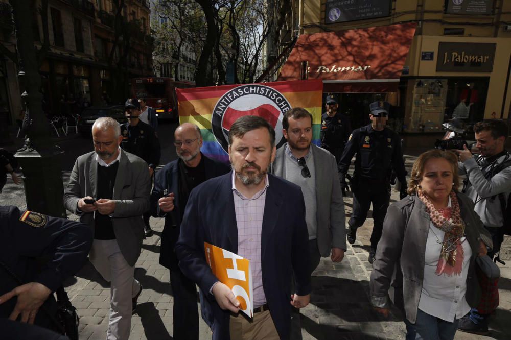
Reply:
[[235, 87], [218, 100], [211, 116], [211, 127], [217, 142], [228, 152], [229, 130], [236, 119], [246, 115], [260, 116], [275, 129], [275, 144], [280, 148], [286, 139], [282, 134], [284, 112], [291, 109], [286, 97], [272, 87], [249, 84]]

